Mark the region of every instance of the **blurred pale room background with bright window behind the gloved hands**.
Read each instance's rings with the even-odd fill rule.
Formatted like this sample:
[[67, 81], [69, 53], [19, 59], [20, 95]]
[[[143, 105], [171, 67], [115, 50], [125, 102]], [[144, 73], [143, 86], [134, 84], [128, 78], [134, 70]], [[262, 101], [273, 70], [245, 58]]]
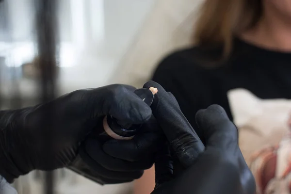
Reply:
[[[200, 1], [58, 0], [57, 96], [117, 82], [141, 87], [165, 54], [191, 43]], [[34, 0], [3, 0], [2, 109], [38, 103], [35, 39]], [[56, 175], [58, 194], [132, 191], [132, 183], [100, 186], [69, 170], [59, 170]], [[41, 194], [42, 178], [42, 172], [32, 172], [18, 178], [14, 186], [19, 194]]]

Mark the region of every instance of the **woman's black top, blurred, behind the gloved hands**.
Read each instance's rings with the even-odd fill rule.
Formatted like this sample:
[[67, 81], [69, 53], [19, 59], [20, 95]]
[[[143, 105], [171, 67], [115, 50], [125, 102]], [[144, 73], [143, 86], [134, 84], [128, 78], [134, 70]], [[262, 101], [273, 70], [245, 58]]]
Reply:
[[224, 63], [217, 60], [221, 52], [199, 47], [177, 51], [162, 60], [153, 76], [177, 98], [200, 137], [195, 113], [219, 104], [232, 119], [226, 94], [231, 89], [244, 88], [262, 99], [291, 98], [291, 53], [261, 49], [238, 39]]

